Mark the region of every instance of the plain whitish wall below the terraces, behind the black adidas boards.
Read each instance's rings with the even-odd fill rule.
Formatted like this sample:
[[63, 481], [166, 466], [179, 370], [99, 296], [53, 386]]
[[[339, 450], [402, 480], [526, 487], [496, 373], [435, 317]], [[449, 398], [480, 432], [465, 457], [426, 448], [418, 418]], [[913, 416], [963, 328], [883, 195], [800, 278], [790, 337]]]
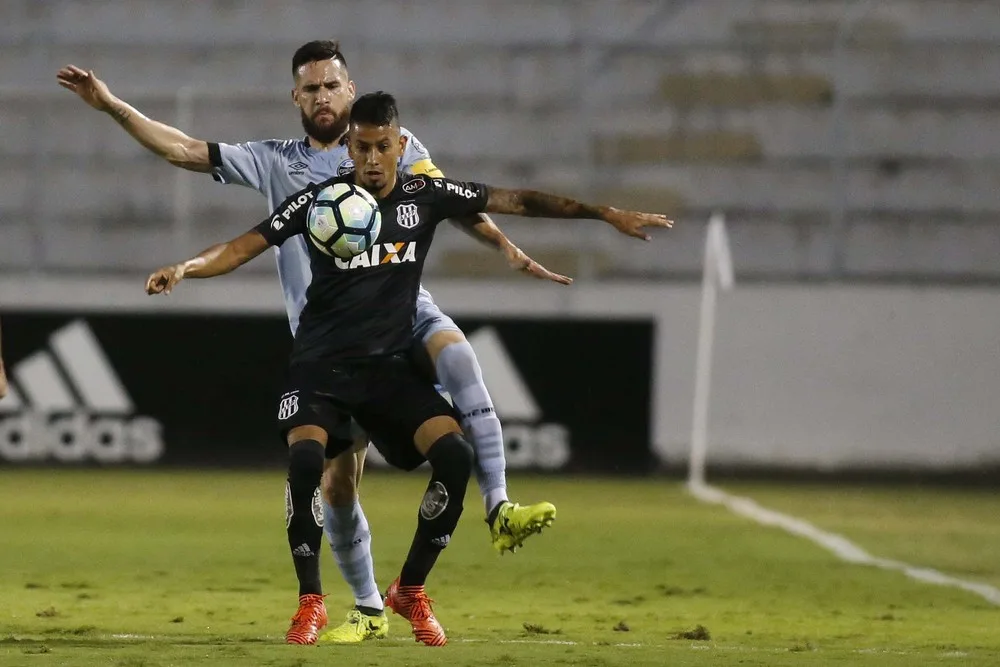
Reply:
[[[519, 280], [428, 287], [456, 315], [654, 318], [655, 446], [667, 463], [686, 460], [698, 287]], [[182, 285], [169, 299], [145, 297], [141, 276], [0, 280], [0, 304], [281, 313], [277, 282], [252, 276]], [[738, 285], [720, 299], [715, 350], [710, 463], [1000, 466], [1000, 290]], [[614, 363], [614, 354], [594, 350], [580, 363]]]

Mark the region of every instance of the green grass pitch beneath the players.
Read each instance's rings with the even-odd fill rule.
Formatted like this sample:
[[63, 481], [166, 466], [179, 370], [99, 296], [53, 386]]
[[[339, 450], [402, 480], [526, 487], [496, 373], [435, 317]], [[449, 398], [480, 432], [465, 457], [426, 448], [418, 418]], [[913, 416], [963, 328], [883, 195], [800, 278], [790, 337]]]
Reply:
[[[426, 480], [362, 497], [379, 583]], [[450, 643], [281, 644], [296, 586], [280, 471], [0, 472], [0, 665], [997, 665], [1000, 608], [838, 561], [674, 481], [515, 477], [554, 528], [516, 555], [466, 516], [428, 582]], [[727, 488], [871, 553], [1000, 585], [1000, 497], [913, 487]], [[332, 623], [350, 595], [324, 551]], [[346, 661], [346, 662], [345, 662]]]

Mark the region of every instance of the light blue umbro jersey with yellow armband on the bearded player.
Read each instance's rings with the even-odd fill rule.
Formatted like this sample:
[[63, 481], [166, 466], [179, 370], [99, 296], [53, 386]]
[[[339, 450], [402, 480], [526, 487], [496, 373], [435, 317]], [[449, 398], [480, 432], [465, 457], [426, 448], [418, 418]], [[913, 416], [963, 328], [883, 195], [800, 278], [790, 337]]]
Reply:
[[[399, 161], [400, 172], [440, 176], [427, 149], [409, 130], [400, 128], [400, 132], [407, 137], [406, 151]], [[321, 151], [311, 147], [305, 138], [209, 144], [209, 154], [215, 165], [212, 170], [215, 180], [260, 192], [267, 197], [268, 213], [310, 183], [319, 183], [354, 169], [346, 144]], [[291, 238], [274, 252], [288, 324], [294, 335], [299, 328], [299, 315], [306, 305], [306, 288], [312, 280], [305, 237]], [[426, 291], [421, 288], [421, 296], [424, 294]]]

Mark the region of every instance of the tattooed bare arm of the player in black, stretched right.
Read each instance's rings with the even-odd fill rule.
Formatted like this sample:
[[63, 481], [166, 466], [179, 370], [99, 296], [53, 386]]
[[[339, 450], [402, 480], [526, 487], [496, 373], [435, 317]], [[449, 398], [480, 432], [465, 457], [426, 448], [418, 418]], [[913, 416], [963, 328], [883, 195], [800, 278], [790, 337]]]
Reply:
[[532, 218], [584, 218], [603, 220], [622, 234], [645, 241], [651, 240], [645, 227], [673, 227], [666, 216], [655, 213], [625, 211], [613, 206], [592, 206], [574, 199], [550, 195], [535, 190], [505, 190], [489, 188], [488, 213], [506, 213]]

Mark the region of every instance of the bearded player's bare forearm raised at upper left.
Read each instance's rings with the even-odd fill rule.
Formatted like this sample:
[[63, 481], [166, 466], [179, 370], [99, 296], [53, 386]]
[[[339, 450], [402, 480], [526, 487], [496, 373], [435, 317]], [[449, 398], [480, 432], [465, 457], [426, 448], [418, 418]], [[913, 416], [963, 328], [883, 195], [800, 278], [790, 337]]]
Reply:
[[56, 79], [60, 86], [114, 118], [133, 139], [175, 167], [199, 172], [212, 170], [207, 142], [147, 118], [135, 107], [112, 95], [107, 84], [98, 79], [93, 70], [84, 71], [76, 65], [67, 65], [59, 70]]

